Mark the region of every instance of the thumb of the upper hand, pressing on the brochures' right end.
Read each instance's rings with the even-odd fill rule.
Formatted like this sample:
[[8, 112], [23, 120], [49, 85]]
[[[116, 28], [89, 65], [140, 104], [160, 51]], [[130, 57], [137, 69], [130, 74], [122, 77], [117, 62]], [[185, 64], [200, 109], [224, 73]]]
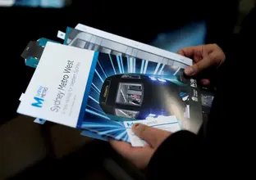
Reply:
[[213, 55], [209, 54], [208, 56], [204, 56], [201, 61], [185, 68], [185, 74], [189, 76], [199, 74], [202, 70], [205, 70], [215, 64], [217, 64], [215, 58], [213, 58]]

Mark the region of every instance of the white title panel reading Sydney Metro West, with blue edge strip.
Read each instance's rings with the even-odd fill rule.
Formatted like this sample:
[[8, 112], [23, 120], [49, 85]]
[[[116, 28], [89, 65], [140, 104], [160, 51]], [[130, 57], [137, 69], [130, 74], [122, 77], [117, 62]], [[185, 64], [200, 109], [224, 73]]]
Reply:
[[[83, 118], [98, 52], [47, 43], [18, 112], [73, 128]], [[88, 85], [86, 85], [88, 84]], [[79, 121], [80, 119], [80, 121]]]

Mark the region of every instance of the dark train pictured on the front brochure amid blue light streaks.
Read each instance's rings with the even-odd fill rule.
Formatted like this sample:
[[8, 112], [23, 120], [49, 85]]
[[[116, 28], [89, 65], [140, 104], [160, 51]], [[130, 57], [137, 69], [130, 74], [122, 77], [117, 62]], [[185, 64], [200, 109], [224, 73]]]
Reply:
[[184, 117], [181, 85], [145, 74], [117, 74], [108, 77], [100, 92], [99, 104], [112, 120]]

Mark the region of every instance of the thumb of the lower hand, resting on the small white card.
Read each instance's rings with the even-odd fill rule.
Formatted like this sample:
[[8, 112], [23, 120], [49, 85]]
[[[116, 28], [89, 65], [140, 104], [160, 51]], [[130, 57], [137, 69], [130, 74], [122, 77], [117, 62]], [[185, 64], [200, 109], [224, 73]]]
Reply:
[[163, 131], [158, 128], [152, 128], [144, 124], [134, 124], [132, 131], [144, 141], [148, 142], [153, 148], [158, 147], [167, 137], [170, 132]]

